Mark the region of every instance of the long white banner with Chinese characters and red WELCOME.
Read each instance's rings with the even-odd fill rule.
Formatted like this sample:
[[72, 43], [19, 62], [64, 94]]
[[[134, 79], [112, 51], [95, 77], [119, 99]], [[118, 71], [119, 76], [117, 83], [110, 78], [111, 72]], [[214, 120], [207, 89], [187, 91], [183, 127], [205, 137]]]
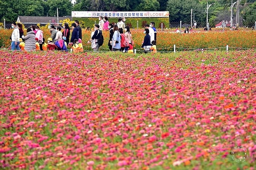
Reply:
[[72, 11], [72, 17], [99, 17], [107, 16], [112, 18], [128, 17], [169, 17], [169, 11], [131, 11], [131, 12], [108, 12], [108, 11]]

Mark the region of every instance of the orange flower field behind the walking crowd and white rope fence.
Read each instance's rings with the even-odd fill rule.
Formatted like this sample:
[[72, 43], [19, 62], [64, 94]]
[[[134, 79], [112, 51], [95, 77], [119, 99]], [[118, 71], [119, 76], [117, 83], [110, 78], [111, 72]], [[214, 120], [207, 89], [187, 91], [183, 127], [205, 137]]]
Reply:
[[[43, 28], [44, 37], [47, 39], [50, 37], [48, 29]], [[145, 34], [143, 29], [131, 30], [135, 48], [140, 49], [141, 42], [144, 40]], [[158, 31], [157, 33], [157, 48], [158, 51], [173, 51], [173, 45], [176, 45], [176, 51], [184, 51], [189, 49], [183, 48], [212, 48], [211, 50], [225, 50], [226, 45], [236, 48], [255, 48], [256, 46], [256, 31], [240, 30], [240, 31], [225, 31], [220, 30], [203, 31], [197, 29], [190, 34], [178, 34], [174, 33], [175, 30]], [[26, 31], [24, 31], [26, 32]], [[0, 30], [0, 47], [8, 48], [11, 44], [9, 38], [12, 30]], [[84, 50], [92, 50], [91, 44], [87, 44], [90, 39], [91, 31], [85, 29], [82, 30], [82, 41]], [[104, 43], [101, 51], [109, 51], [109, 31], [103, 31]], [[68, 46], [70, 48], [70, 46]], [[222, 48], [220, 48], [222, 47]], [[105, 49], [106, 48], [106, 49]], [[216, 48], [216, 49], [215, 49]], [[229, 50], [236, 50], [236, 48], [230, 48]]]

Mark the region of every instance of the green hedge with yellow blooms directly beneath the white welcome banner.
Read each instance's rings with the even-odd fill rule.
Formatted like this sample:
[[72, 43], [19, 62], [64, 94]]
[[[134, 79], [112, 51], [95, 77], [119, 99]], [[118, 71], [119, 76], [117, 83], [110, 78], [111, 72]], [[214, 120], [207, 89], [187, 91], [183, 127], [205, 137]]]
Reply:
[[[155, 22], [156, 28], [161, 28], [161, 23], [163, 23], [163, 28], [169, 27], [169, 18], [125, 18], [125, 24], [130, 28], [137, 28], [137, 21], [139, 28], [143, 28], [145, 24], [150, 24], [150, 22]], [[72, 18], [72, 20], [78, 20], [82, 28], [93, 28], [94, 24], [99, 23], [98, 18]], [[117, 23], [118, 18], [109, 18], [109, 23]]]

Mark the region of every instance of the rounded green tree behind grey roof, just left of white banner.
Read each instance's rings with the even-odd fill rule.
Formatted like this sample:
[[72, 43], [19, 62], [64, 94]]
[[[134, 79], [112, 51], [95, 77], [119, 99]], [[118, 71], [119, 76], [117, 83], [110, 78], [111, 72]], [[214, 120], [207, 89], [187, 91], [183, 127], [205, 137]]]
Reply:
[[73, 6], [69, 0], [48, 0], [46, 3], [49, 6], [49, 16], [57, 16], [57, 8], [59, 16], [71, 15]]

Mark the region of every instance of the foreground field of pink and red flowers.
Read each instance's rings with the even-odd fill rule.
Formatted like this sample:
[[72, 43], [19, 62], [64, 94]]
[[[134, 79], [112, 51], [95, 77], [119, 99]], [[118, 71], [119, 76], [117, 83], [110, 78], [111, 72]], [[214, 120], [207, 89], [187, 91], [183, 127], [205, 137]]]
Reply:
[[0, 169], [256, 168], [253, 51], [1, 54]]

